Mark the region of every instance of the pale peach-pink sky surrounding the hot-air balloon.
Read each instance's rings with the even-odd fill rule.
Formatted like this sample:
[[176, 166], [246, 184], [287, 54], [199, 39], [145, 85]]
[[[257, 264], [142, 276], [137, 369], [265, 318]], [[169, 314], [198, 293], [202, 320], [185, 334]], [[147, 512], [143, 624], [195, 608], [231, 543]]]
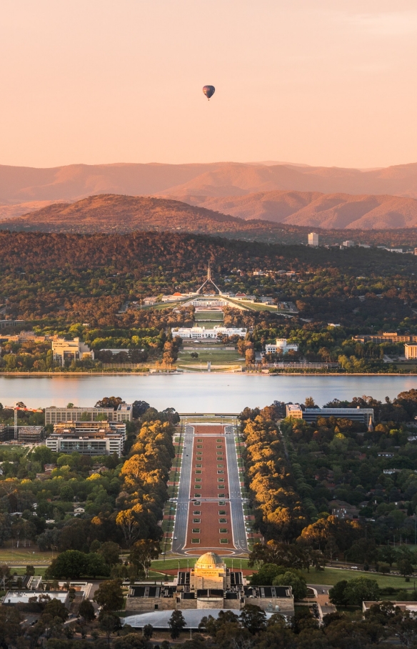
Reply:
[[0, 164], [417, 162], [416, 73], [416, 0], [1, 0]]

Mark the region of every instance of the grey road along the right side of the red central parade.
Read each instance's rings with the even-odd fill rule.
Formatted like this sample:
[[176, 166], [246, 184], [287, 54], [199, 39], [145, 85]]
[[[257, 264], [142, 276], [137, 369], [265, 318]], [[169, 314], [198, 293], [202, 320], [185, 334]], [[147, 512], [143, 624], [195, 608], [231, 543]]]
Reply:
[[248, 552], [246, 540], [245, 519], [243, 516], [243, 503], [241, 497], [241, 485], [238, 470], [238, 458], [234, 441], [233, 426], [226, 426], [226, 454], [227, 454], [227, 475], [228, 491], [231, 511], [231, 524], [233, 530], [233, 543], [236, 550]]

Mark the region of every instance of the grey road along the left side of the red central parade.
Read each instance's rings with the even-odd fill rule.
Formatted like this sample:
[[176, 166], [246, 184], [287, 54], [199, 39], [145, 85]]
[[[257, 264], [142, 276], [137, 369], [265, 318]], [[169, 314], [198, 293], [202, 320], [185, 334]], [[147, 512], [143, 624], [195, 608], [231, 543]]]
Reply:
[[172, 551], [181, 553], [186, 545], [187, 522], [189, 518], [189, 501], [191, 485], [191, 468], [193, 465], [194, 427], [186, 425], [184, 431], [184, 450], [179, 476], [178, 499], [174, 525]]

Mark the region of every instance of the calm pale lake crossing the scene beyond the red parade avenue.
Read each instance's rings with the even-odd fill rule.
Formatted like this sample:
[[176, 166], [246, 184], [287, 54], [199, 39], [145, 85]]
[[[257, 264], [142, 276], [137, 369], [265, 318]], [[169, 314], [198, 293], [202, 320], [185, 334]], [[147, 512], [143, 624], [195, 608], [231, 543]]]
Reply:
[[178, 412], [240, 412], [263, 407], [274, 400], [303, 402], [313, 397], [318, 405], [337, 397], [371, 395], [383, 400], [417, 387], [417, 377], [154, 375], [117, 377], [0, 377], [0, 402], [23, 401], [29, 407], [94, 405], [101, 397], [144, 400], [163, 410]]

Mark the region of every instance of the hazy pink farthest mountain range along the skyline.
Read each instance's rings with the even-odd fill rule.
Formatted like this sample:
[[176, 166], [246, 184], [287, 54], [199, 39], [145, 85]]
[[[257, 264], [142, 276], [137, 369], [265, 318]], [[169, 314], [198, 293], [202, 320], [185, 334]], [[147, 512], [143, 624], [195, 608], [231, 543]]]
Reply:
[[195, 197], [293, 190], [323, 194], [393, 194], [417, 198], [417, 163], [386, 169], [286, 163], [71, 164], [51, 169], [0, 165], [0, 204], [76, 201], [91, 194]]

